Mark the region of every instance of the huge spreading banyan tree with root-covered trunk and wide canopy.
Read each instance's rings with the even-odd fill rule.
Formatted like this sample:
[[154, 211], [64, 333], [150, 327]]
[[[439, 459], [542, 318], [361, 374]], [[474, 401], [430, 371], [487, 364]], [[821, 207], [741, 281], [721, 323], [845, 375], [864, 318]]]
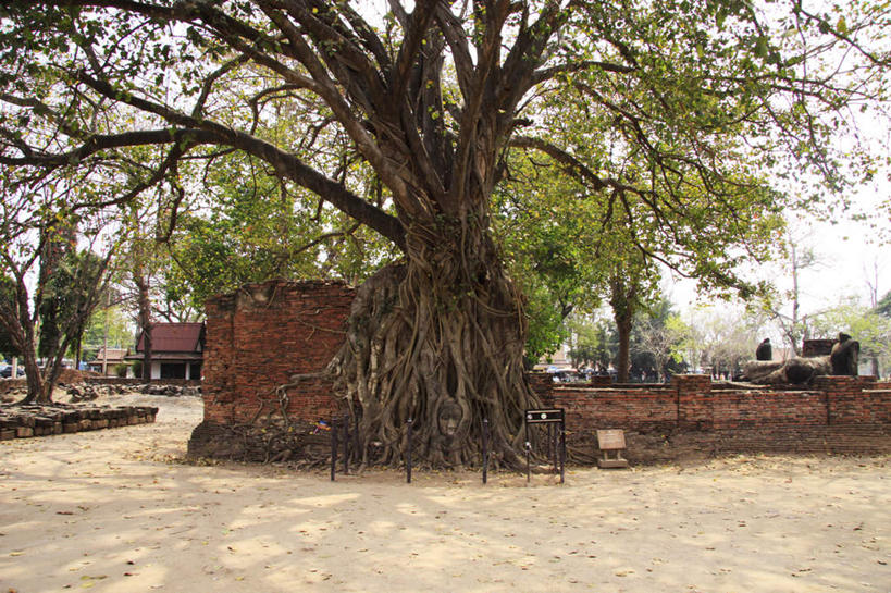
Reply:
[[[382, 461], [409, 418], [431, 464], [474, 462], [483, 419], [503, 462], [521, 450], [537, 404], [523, 298], [491, 230], [512, 150], [574, 175], [603, 232], [621, 212], [648, 255], [720, 281], [720, 248], [780, 206], [766, 166], [840, 187], [827, 141], [887, 84], [879, 3], [46, 0], [0, 14], [13, 190], [125, 177], [78, 207], [122, 203], [189, 190], [183, 162], [240, 151], [398, 247], [331, 367]], [[544, 125], [570, 120], [574, 138]]]

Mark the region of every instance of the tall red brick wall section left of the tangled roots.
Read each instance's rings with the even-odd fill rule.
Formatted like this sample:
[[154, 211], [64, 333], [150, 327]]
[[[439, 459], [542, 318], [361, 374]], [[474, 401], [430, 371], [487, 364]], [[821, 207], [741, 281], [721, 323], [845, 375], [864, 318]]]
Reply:
[[344, 343], [354, 298], [355, 289], [341, 282], [270, 281], [209, 300], [205, 421], [189, 452], [237, 457], [223, 447], [231, 436], [225, 428], [286, 429], [336, 413], [343, 403], [326, 379], [301, 380], [284, 397], [276, 387], [325, 369]]

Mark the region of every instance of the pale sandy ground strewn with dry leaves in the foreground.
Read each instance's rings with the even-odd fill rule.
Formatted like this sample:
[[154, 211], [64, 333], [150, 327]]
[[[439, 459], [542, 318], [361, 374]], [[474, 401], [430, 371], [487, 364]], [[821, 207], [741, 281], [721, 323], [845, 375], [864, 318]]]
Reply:
[[0, 443], [0, 592], [891, 592], [891, 457], [548, 477], [182, 462], [154, 424]]

